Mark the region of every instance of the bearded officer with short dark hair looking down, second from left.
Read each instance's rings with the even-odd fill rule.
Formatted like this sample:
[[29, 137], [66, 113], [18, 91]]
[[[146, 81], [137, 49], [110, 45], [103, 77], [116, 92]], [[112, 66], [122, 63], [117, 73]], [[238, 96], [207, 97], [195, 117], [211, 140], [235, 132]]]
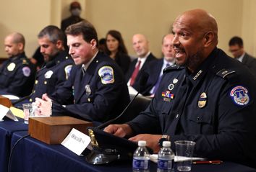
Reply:
[[30, 102], [43, 94], [51, 95], [67, 81], [73, 60], [64, 50], [64, 33], [56, 26], [49, 25], [38, 34], [40, 53], [43, 54], [45, 64], [35, 79], [35, 88]]

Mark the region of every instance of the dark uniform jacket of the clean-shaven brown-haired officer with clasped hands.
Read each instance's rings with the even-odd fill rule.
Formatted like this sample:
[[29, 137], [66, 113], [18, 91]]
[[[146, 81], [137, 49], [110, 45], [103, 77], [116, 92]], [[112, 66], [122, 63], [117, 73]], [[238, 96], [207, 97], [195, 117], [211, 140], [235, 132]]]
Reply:
[[[74, 65], [64, 86], [51, 98], [55, 116], [104, 122], [121, 113], [129, 102], [129, 93], [121, 68], [108, 56], [98, 53], [85, 73], [82, 65]], [[70, 98], [74, 99], [72, 104]]]

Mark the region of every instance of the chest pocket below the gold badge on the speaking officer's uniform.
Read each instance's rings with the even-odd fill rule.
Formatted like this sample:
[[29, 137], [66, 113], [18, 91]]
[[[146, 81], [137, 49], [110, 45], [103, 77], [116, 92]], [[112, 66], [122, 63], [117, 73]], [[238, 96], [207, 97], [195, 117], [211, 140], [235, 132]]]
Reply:
[[210, 109], [192, 109], [188, 113], [191, 134], [214, 134], [214, 112]]

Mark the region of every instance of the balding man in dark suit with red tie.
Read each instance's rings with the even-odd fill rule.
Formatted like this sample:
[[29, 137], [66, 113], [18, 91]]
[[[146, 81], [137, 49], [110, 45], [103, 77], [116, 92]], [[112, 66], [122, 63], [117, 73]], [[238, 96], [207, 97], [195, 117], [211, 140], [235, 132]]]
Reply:
[[[126, 80], [128, 86], [132, 86], [133, 89], [139, 91], [139, 81], [142, 71], [145, 70], [151, 60], [155, 60], [156, 58], [149, 50], [149, 42], [145, 35], [134, 35], [132, 37], [132, 47], [138, 58], [133, 60], [129, 65], [129, 70], [126, 73]], [[130, 89], [129, 93], [131, 94]]]

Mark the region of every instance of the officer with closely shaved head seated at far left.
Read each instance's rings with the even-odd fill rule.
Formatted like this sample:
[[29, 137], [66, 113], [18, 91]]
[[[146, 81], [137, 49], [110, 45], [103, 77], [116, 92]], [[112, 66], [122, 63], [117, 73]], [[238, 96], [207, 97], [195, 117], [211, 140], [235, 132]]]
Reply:
[[13, 32], [4, 39], [9, 59], [0, 68], [0, 89], [16, 96], [27, 96], [33, 89], [35, 66], [25, 55], [25, 38]]

